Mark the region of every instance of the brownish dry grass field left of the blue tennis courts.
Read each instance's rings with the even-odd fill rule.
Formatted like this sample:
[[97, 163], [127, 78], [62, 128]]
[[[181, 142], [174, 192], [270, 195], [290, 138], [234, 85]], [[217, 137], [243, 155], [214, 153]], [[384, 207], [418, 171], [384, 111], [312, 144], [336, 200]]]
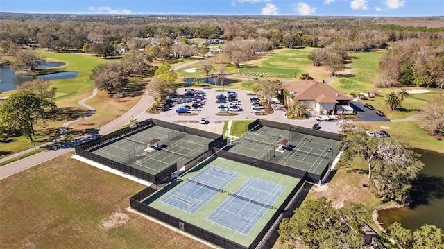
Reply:
[[207, 248], [126, 211], [144, 186], [69, 156], [0, 181], [0, 248]]

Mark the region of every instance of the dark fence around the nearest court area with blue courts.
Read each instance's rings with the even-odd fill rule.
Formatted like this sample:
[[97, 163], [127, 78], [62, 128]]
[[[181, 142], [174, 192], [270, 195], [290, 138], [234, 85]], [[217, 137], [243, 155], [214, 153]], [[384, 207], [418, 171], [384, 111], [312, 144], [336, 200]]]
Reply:
[[141, 212], [143, 214], [147, 214], [148, 216], [151, 216], [153, 218], [156, 218], [159, 221], [163, 221], [164, 223], [167, 223], [169, 225], [172, 225], [173, 227], [177, 227], [178, 229], [187, 232], [189, 234], [193, 234], [194, 236], [205, 239], [205, 241], [209, 241], [210, 243], [214, 243], [216, 246], [221, 246], [222, 248], [228, 248], [228, 249], [250, 249], [250, 248], [256, 248], [259, 243], [261, 243], [262, 239], [266, 237], [266, 234], [268, 233], [268, 230], [271, 229], [273, 226], [273, 223], [280, 217], [282, 212], [284, 212], [285, 207], [289, 204], [291, 199], [296, 195], [300, 187], [305, 183], [306, 181], [306, 175], [304, 175], [302, 178], [300, 178], [300, 181], [296, 185], [296, 187], [291, 191], [289, 196], [285, 198], [282, 205], [277, 207], [275, 210], [275, 213], [271, 217], [271, 219], [264, 225], [262, 230], [257, 234], [257, 237], [253, 240], [252, 243], [250, 243], [250, 246], [243, 246], [239, 243], [236, 243], [234, 241], [231, 241], [230, 239], [227, 239], [225, 237], [222, 237], [218, 234], [214, 234], [208, 230], [203, 229], [202, 227], [198, 227], [197, 225], [193, 225], [191, 223], [188, 223], [186, 221], [181, 220], [178, 217], [171, 216], [169, 214], [166, 214], [158, 209], [155, 209], [153, 207], [150, 207], [148, 204], [144, 203], [144, 200], [146, 198], [149, 198], [155, 194], [156, 191], [159, 189], [162, 189], [162, 187], [147, 187], [146, 189], [140, 191], [139, 193], [135, 194], [135, 196], [132, 196], [130, 198], [130, 206], [132, 209], [137, 210], [138, 212]]

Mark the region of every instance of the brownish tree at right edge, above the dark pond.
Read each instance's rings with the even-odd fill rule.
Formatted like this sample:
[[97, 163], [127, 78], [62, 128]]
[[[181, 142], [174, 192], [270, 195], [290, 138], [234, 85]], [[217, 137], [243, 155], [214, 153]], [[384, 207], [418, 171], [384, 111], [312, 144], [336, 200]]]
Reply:
[[432, 135], [438, 134], [444, 128], [444, 94], [436, 94], [425, 108], [422, 128], [429, 130]]

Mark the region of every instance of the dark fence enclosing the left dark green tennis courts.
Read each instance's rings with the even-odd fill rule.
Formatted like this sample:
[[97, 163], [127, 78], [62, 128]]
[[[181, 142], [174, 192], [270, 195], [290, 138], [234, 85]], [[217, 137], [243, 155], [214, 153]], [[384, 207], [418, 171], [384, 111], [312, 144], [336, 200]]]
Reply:
[[[159, 173], [155, 173], [155, 174], [148, 173], [148, 172], [145, 172], [145, 171], [142, 171], [139, 169], [135, 169], [129, 165], [124, 164], [124, 162], [127, 162], [130, 159], [133, 159], [133, 157], [130, 154], [128, 154], [127, 158], [122, 157], [121, 162], [117, 162], [116, 158], [114, 158], [114, 160], [113, 160], [113, 159], [109, 159], [109, 158], [103, 157], [101, 155], [96, 155], [96, 154], [92, 153], [92, 151], [94, 151], [94, 150], [97, 150], [99, 148], [102, 148], [104, 146], [112, 144], [115, 141], [118, 141], [119, 139], [123, 139], [123, 136], [129, 137], [130, 135], [134, 135], [137, 132], [142, 132], [143, 130], [148, 129], [151, 126], [161, 126], [164, 128], [173, 129], [173, 131], [177, 130], [178, 133], [176, 133], [176, 134], [187, 133], [187, 134], [191, 134], [191, 135], [197, 135], [199, 137], [205, 137], [208, 139], [212, 139], [212, 141], [209, 144], [205, 144], [205, 149], [204, 149], [203, 153], [196, 155], [194, 158], [185, 158], [183, 160], [175, 162], [175, 163], [165, 167]], [[178, 137], [178, 136], [176, 136], [176, 137]], [[214, 151], [212, 151], [212, 148], [222, 148], [226, 143], [227, 143], [227, 140], [223, 139], [222, 135], [214, 134], [212, 132], [205, 132], [203, 130], [197, 130], [194, 128], [187, 128], [185, 126], [180, 126], [175, 123], [168, 123], [165, 121], [160, 121], [157, 119], [147, 119], [146, 121], [142, 121], [142, 122], [137, 123], [137, 127], [122, 128], [121, 130], [117, 130], [117, 131], [112, 132], [108, 135], [104, 135], [103, 137], [101, 137], [95, 141], [92, 141], [88, 144], [76, 146], [75, 151], [76, 151], [76, 155], [80, 155], [81, 157], [85, 157], [88, 160], [92, 160], [94, 162], [99, 162], [100, 164], [108, 166], [112, 169], [116, 169], [116, 170], [121, 171], [123, 173], [127, 173], [128, 175], [133, 175], [137, 178], [140, 178], [142, 180], [146, 180], [148, 182], [158, 182], [164, 178], [171, 180], [171, 173], [174, 173], [175, 171], [177, 171], [178, 169], [181, 169], [182, 167], [185, 167], [185, 170], [191, 169], [193, 166], [196, 166], [198, 163], [200, 163], [203, 160], [210, 157], [212, 155], [212, 153], [214, 153]]]

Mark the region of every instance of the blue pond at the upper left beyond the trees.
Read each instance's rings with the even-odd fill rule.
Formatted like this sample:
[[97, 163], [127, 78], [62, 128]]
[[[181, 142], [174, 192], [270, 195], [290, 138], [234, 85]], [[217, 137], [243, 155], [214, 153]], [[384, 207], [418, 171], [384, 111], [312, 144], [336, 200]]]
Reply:
[[[64, 63], [47, 62], [46, 65], [43, 65], [39, 68], [60, 67], [62, 65], [64, 65]], [[19, 76], [15, 75], [15, 71], [17, 71], [17, 69], [10, 69], [9, 65], [0, 67], [0, 92], [15, 90], [17, 85], [20, 85], [25, 81], [34, 80], [36, 78], [44, 78], [45, 80], [63, 80], [68, 78], [75, 78], [78, 76], [78, 72], [75, 71], [65, 71], [40, 76]]]

